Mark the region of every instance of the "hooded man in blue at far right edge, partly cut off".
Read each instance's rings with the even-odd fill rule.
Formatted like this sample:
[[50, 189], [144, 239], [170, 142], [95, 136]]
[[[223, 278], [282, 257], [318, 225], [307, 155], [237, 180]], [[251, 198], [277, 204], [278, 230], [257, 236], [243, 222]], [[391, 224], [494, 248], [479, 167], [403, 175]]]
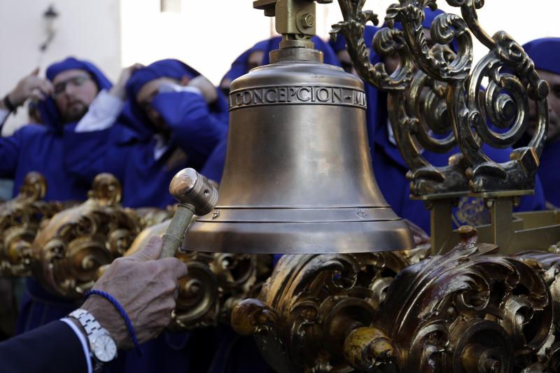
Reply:
[[[547, 205], [560, 209], [560, 38], [540, 38], [523, 45], [525, 52], [533, 59], [540, 78], [550, 87], [548, 94], [549, 126], [545, 148], [540, 157], [538, 177], [542, 181]], [[536, 123], [536, 105], [530, 101], [530, 125]]]

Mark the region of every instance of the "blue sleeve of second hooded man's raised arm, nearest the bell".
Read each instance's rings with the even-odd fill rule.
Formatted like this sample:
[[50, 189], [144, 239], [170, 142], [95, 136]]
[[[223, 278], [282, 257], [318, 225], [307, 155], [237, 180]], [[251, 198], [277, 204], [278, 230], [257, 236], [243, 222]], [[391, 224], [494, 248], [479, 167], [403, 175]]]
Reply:
[[200, 94], [160, 93], [152, 106], [171, 129], [173, 143], [185, 150], [192, 164], [203, 165], [227, 135], [228, 127], [210, 114]]

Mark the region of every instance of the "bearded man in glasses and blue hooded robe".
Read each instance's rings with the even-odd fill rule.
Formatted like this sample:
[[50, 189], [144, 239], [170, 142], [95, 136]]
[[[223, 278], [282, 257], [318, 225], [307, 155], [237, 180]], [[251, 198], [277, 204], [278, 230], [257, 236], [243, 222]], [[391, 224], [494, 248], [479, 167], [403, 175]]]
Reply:
[[[47, 181], [45, 200], [84, 200], [91, 185], [62, 167], [62, 149], [66, 134], [73, 131], [98, 92], [109, 90], [111, 83], [93, 64], [72, 57], [52, 64], [46, 75], [53, 92], [40, 103], [43, 125], [26, 125], [0, 138], [0, 178], [14, 179], [16, 195], [27, 173], [38, 171]], [[50, 94], [46, 88], [43, 91]]]

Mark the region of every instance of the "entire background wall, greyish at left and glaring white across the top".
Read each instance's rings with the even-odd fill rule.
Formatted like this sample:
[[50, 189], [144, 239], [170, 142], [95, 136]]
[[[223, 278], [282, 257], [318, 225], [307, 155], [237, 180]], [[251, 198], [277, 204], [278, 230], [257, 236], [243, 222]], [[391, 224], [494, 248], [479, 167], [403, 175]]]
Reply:
[[[395, 0], [367, 0], [383, 22]], [[39, 59], [43, 42], [42, 14], [50, 3], [60, 13], [57, 35]], [[44, 69], [66, 55], [87, 57], [111, 79], [121, 66], [149, 64], [174, 57], [192, 65], [218, 84], [233, 59], [272, 35], [271, 19], [252, 8], [252, 0], [182, 0], [181, 13], [160, 13], [160, 0], [0, 0], [0, 96], [39, 64]], [[443, 0], [438, 5], [458, 12]], [[507, 6], [507, 9], [505, 9]], [[342, 20], [339, 5], [317, 5], [318, 34]], [[479, 20], [489, 34], [504, 29], [524, 43], [543, 36], [560, 36], [559, 0], [488, 0]], [[475, 45], [475, 59], [486, 49]], [[4, 134], [25, 122], [20, 111]]]

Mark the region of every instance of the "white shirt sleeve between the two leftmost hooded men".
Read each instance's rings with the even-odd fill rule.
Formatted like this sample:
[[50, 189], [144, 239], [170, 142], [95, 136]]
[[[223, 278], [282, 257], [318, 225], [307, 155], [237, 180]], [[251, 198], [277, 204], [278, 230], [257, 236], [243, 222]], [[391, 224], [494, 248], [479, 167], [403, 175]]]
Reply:
[[116, 122], [124, 106], [125, 101], [102, 90], [97, 94], [74, 131], [93, 132], [108, 129]]

